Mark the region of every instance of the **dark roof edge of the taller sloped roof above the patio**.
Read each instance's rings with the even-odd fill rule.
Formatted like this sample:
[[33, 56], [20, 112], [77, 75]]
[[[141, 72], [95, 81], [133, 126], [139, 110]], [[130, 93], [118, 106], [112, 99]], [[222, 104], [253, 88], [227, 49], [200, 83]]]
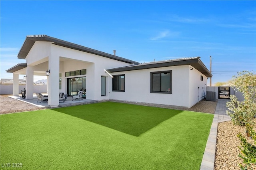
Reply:
[[79, 51], [84, 51], [84, 52], [87, 52], [87, 53], [100, 55], [102, 57], [107, 57], [107, 58], [122, 61], [122, 62], [125, 62], [125, 63], [139, 64], [136, 61], [132, 61], [132, 60], [125, 59], [125, 58], [122, 58], [122, 57], [118, 57], [116, 55], [111, 55], [111, 54], [108, 54], [108, 53], [104, 53], [102, 51], [98, 51], [98, 50], [95, 50], [95, 49], [84, 47], [82, 45], [78, 45], [78, 44], [75, 44], [75, 43], [66, 42], [66, 41], [63, 41], [63, 40], [60, 40], [60, 39], [57, 39], [57, 38], [53, 38], [53, 37], [50, 37], [50, 36], [46, 36], [46, 35], [27, 36], [25, 42], [23, 43], [23, 45], [22, 45], [22, 47], [21, 47], [21, 49], [18, 53], [18, 58], [19, 59], [26, 59], [26, 56], [28, 55], [30, 49], [32, 48], [32, 46], [34, 45], [34, 43], [36, 41], [53, 42], [53, 44], [60, 45], [62, 47], [67, 47], [67, 48], [76, 49], [76, 50], [79, 50]]

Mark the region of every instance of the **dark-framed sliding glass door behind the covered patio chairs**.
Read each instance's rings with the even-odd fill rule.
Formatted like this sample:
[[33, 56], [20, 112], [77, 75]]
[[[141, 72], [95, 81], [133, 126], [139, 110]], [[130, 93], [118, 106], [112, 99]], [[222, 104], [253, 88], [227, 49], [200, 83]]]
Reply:
[[86, 77], [68, 79], [68, 95], [77, 95], [78, 91], [84, 91], [84, 94], [86, 94]]

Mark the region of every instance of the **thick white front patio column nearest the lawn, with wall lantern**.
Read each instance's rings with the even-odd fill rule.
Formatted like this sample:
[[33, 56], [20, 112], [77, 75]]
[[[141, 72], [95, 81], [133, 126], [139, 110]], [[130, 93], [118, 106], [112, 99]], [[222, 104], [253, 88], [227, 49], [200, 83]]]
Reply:
[[60, 72], [60, 57], [57, 55], [49, 56], [48, 76], [48, 105], [57, 107], [59, 105], [59, 72]]

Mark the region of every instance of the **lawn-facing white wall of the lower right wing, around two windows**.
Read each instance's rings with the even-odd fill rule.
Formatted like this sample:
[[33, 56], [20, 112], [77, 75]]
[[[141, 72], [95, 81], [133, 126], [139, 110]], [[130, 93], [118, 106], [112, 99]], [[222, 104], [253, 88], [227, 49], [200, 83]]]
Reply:
[[[172, 94], [150, 93], [150, 72], [169, 70], [172, 70]], [[189, 67], [184, 65], [113, 73], [125, 74], [125, 92], [111, 89], [110, 99], [190, 107], [188, 71]]]

